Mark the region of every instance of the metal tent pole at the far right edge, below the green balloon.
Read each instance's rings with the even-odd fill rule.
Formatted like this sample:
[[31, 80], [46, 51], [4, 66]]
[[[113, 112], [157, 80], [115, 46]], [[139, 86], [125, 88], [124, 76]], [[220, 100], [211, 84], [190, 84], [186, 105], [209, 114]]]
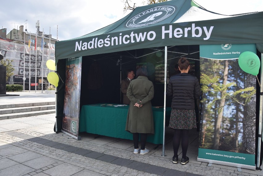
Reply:
[[[262, 71], [262, 60], [263, 54], [261, 53], [261, 71], [260, 71], [260, 85], [263, 84], [263, 71]], [[263, 87], [260, 86], [260, 100], [259, 100], [259, 125], [258, 125], [258, 140], [257, 140], [257, 164], [256, 164], [256, 170], [260, 170], [260, 149], [261, 149], [261, 131], [262, 131], [262, 106], [263, 106]]]

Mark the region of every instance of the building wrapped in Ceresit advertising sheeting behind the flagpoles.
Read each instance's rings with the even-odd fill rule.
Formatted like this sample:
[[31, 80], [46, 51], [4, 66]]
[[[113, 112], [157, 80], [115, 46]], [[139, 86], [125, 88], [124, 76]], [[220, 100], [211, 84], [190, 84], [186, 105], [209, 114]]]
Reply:
[[[15, 68], [14, 75], [9, 84], [23, 84], [25, 79], [25, 90], [46, 88], [47, 75], [53, 70], [47, 68], [49, 59], [55, 60], [55, 42], [51, 35], [43, 35], [43, 32], [30, 33], [24, 31], [23, 25], [19, 30], [12, 29], [6, 34], [6, 28], [0, 30], [0, 51], [4, 60], [12, 61]], [[42, 41], [43, 39], [43, 41]], [[42, 79], [43, 78], [43, 79]]]

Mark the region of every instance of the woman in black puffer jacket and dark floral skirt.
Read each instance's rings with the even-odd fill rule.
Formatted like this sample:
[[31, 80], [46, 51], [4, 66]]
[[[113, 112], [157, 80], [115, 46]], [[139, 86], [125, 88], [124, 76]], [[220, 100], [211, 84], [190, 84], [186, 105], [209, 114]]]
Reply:
[[189, 129], [196, 128], [194, 99], [201, 96], [198, 79], [190, 74], [190, 63], [185, 57], [179, 59], [178, 67], [181, 73], [172, 76], [167, 89], [168, 96], [172, 97], [172, 111], [169, 128], [174, 129], [173, 136], [173, 163], [177, 163], [180, 135], [182, 133], [181, 164], [189, 162], [186, 157], [188, 148]]

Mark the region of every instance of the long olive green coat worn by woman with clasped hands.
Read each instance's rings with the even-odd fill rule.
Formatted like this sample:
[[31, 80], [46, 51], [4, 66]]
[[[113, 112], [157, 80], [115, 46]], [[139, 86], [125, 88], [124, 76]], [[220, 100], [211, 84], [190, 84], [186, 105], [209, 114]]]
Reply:
[[[154, 134], [151, 103], [153, 95], [154, 87], [147, 77], [139, 76], [131, 81], [127, 89], [127, 97], [131, 100], [131, 103], [127, 115], [126, 131]], [[134, 106], [135, 103], [140, 103], [142, 107]]]

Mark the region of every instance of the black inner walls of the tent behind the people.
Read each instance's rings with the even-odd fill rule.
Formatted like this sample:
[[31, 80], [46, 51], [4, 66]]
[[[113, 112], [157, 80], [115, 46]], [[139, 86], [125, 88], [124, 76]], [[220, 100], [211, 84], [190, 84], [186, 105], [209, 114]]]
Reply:
[[[177, 62], [181, 57], [186, 57], [192, 67], [192, 75], [200, 79], [199, 72], [199, 45], [170, 46], [167, 54], [167, 65], [169, 66], [168, 75], [178, 73]], [[126, 70], [133, 69], [136, 72], [136, 65], [146, 64], [149, 73], [149, 80], [154, 83], [155, 96], [152, 99], [153, 106], [163, 106], [164, 103], [164, 83], [160, 83], [155, 74], [155, 67], [164, 65], [164, 47], [158, 48], [142, 48], [136, 50], [127, 50], [122, 52], [113, 52], [106, 54], [97, 54], [91, 56], [83, 56], [82, 72], [81, 72], [81, 98], [80, 108], [85, 104], [93, 103], [122, 103], [122, 93], [120, 91], [121, 79], [126, 78]], [[65, 59], [59, 60], [57, 64], [57, 73], [60, 75], [61, 81], [57, 88], [58, 118], [63, 116], [64, 94], [65, 94]], [[92, 65], [98, 65], [101, 71], [100, 80], [88, 78]], [[164, 69], [163, 69], [164, 70]], [[164, 72], [164, 71], [163, 71]], [[136, 77], [136, 76], [135, 76]], [[163, 79], [163, 78], [162, 78]], [[169, 77], [168, 77], [169, 79]], [[163, 81], [163, 80], [162, 80]], [[89, 86], [90, 84], [98, 84], [96, 88]], [[170, 107], [171, 100], [166, 98], [166, 106]], [[62, 119], [59, 118], [58, 130], [60, 131]]]

